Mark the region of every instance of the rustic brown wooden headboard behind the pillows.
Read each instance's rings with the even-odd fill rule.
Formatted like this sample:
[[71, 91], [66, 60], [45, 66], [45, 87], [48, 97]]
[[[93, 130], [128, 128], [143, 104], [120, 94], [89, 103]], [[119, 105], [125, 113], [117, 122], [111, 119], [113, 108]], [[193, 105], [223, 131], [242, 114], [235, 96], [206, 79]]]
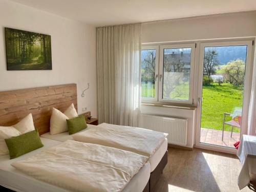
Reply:
[[71, 103], [77, 110], [76, 84], [63, 84], [0, 92], [0, 126], [16, 124], [32, 113], [39, 134], [50, 131], [52, 108], [65, 111]]

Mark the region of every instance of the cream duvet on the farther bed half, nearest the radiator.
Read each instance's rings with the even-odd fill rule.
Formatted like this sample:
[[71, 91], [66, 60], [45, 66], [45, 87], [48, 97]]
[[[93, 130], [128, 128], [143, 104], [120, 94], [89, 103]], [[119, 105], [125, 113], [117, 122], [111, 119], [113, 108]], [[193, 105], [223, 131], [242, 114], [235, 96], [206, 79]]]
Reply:
[[80, 142], [115, 147], [151, 157], [167, 135], [137, 127], [102, 123], [93, 129], [73, 135], [73, 138]]

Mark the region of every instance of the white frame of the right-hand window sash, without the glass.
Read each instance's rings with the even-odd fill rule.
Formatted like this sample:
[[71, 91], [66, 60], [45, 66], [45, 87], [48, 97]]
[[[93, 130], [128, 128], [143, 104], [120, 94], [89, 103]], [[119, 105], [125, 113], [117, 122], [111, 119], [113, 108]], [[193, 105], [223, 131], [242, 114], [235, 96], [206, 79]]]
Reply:
[[[180, 99], [163, 99], [163, 55], [164, 49], [178, 49], [178, 48], [191, 48], [191, 62], [190, 62], [190, 74], [189, 74], [189, 98], [188, 100]], [[181, 104], [193, 104], [193, 91], [194, 91], [194, 68], [195, 68], [195, 48], [196, 44], [169, 44], [160, 46], [160, 65], [159, 65], [159, 92], [158, 99], [160, 102], [168, 103], [181, 103]]]

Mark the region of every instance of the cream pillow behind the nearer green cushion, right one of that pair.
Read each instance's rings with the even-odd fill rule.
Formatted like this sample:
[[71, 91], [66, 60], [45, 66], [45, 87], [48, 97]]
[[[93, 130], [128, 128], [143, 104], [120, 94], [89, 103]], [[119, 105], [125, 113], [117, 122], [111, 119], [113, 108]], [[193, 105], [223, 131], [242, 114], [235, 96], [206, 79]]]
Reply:
[[25, 134], [35, 130], [34, 122], [32, 114], [28, 114], [22, 120], [20, 120], [17, 124], [12, 125], [16, 130], [18, 130], [21, 134]]

